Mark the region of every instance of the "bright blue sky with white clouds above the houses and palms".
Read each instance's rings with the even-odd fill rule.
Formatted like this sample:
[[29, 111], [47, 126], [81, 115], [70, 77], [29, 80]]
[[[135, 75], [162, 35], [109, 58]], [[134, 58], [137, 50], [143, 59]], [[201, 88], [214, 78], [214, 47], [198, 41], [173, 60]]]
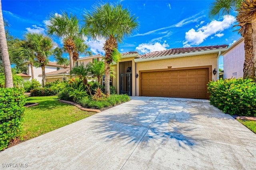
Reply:
[[[22, 38], [26, 32], [46, 34], [48, 16], [52, 12], [60, 14], [61, 11], [66, 11], [81, 19], [84, 10], [90, 10], [96, 2], [98, 1], [2, 0], [2, 12], [4, 19], [10, 24], [10, 34]], [[123, 7], [129, 8], [138, 17], [140, 28], [118, 44], [118, 50], [121, 53], [138, 51], [143, 54], [176, 47], [231, 45], [241, 37], [233, 32], [236, 28], [232, 29], [236, 25], [236, 13], [210, 20], [208, 12], [212, 2], [214, 0], [121, 0]], [[61, 40], [53, 40], [62, 46]], [[86, 43], [93, 54], [104, 54], [104, 41], [92, 41], [88, 38]], [[220, 64], [222, 67], [222, 61]]]

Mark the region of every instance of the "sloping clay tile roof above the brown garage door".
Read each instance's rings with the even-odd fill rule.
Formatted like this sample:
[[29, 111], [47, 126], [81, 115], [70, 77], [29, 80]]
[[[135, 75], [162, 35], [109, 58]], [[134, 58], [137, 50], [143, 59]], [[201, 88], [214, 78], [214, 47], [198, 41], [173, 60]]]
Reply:
[[220, 49], [220, 48], [226, 48], [226, 47], [228, 47], [228, 45], [210, 45], [210, 46], [202, 46], [202, 47], [171, 48], [163, 51], [153, 51], [151, 53], [146, 53], [141, 55], [141, 58], [175, 55], [175, 54], [190, 53], [195, 51], [206, 51], [206, 50]]

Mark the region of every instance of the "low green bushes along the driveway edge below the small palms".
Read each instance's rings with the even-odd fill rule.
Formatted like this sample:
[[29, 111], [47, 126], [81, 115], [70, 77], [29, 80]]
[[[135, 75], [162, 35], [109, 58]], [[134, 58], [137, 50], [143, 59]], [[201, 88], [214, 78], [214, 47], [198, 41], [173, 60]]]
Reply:
[[102, 109], [104, 107], [115, 106], [126, 101], [130, 101], [130, 97], [128, 95], [110, 95], [106, 100], [103, 101], [83, 98], [82, 100], [78, 101], [78, 104], [86, 108]]

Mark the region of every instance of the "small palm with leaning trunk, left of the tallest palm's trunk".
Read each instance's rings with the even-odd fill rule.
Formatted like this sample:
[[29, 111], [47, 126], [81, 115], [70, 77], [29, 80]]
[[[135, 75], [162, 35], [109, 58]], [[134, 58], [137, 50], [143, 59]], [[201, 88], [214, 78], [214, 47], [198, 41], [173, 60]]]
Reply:
[[90, 87], [88, 85], [87, 79], [90, 78], [91, 74], [87, 67], [84, 67], [84, 63], [80, 63], [78, 67], [74, 67], [70, 70], [70, 75], [79, 77], [80, 80], [83, 81], [84, 86], [86, 86], [90, 95], [92, 95], [90, 91]]

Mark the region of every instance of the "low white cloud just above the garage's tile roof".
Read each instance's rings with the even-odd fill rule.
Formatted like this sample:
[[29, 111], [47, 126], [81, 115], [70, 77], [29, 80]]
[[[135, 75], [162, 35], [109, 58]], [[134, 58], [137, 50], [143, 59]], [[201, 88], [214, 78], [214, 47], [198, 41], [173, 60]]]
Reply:
[[165, 50], [166, 47], [169, 47], [168, 43], [166, 41], [163, 44], [157, 43], [142, 43], [136, 47], [136, 50], [139, 53], [150, 53], [153, 51], [161, 51]]

